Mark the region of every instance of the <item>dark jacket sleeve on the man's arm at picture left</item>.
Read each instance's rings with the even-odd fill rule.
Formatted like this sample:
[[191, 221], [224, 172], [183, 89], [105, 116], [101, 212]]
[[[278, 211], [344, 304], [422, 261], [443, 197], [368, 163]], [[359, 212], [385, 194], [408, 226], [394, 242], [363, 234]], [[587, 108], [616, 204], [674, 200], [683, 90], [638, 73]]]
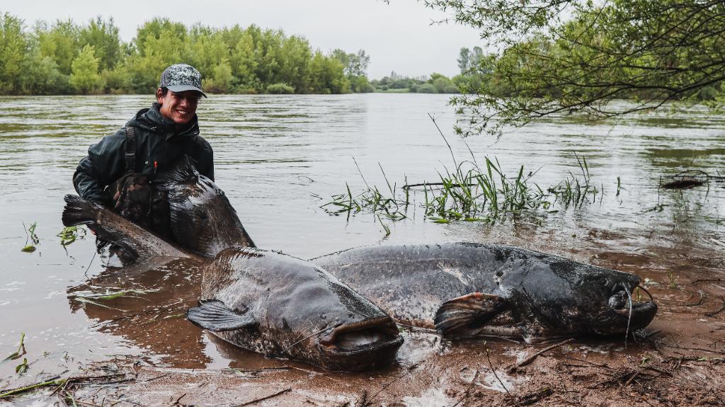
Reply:
[[105, 204], [104, 188], [125, 172], [125, 130], [108, 135], [88, 148], [73, 174], [73, 186], [81, 198]]

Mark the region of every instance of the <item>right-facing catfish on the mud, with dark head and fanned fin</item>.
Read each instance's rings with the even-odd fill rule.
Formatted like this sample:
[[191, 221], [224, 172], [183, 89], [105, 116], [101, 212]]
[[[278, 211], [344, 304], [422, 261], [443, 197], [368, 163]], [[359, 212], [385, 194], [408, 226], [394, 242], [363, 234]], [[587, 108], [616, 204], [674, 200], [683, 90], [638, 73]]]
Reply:
[[398, 322], [446, 337], [624, 335], [657, 312], [634, 302], [634, 274], [512, 246], [369, 246], [312, 262]]

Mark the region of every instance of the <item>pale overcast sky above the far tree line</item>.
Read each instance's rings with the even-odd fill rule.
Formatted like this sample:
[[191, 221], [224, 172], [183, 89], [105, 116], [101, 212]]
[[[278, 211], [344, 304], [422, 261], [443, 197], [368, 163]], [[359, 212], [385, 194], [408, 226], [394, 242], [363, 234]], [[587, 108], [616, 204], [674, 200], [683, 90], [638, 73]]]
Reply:
[[460, 25], [431, 25], [444, 14], [426, 9], [415, 0], [176, 0], [0, 1], [0, 12], [9, 12], [32, 27], [36, 20], [72, 18], [87, 22], [96, 15], [113, 17], [123, 41], [153, 17], [191, 25], [213, 27], [250, 24], [281, 28], [288, 35], [302, 35], [313, 48], [329, 52], [365, 49], [370, 55], [368, 77], [377, 79], [395, 71], [411, 77], [439, 72], [458, 73], [462, 46], [479, 45], [476, 30]]

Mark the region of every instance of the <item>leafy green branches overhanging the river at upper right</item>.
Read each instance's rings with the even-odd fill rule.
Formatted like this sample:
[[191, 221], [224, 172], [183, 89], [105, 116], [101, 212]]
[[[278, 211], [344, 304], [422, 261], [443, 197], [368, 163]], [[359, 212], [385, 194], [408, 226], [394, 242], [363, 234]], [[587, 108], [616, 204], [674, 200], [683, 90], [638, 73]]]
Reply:
[[[457, 96], [472, 112], [463, 134], [501, 134], [560, 112], [589, 117], [697, 100], [725, 79], [725, 3], [705, 0], [433, 0], [479, 29], [479, 88]], [[566, 9], [566, 12], [565, 12]], [[634, 104], [611, 104], [629, 98]]]

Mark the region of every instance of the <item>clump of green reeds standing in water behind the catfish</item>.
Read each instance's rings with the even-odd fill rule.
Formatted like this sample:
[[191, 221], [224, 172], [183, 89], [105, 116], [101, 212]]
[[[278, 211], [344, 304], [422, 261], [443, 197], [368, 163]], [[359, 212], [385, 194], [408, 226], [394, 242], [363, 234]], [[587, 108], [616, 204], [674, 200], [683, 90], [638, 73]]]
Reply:
[[[358, 167], [365, 188], [354, 194], [346, 183], [347, 193], [332, 196], [332, 201], [321, 207], [330, 214], [350, 217], [366, 212], [376, 214], [378, 220], [382, 216], [397, 221], [409, 217], [412, 198], [423, 195], [423, 214], [436, 223], [494, 222], [524, 212], [547, 211], [552, 204], [579, 208], [594, 203], [601, 192], [592, 185], [587, 160], [575, 157], [581, 175], [569, 172], [564, 180], [546, 190], [531, 181], [535, 172], [527, 173], [523, 165], [509, 176], [498, 159], [488, 157], [484, 157], [484, 165], [479, 165], [475, 159], [457, 163], [454, 156], [455, 170], [439, 172], [439, 182], [410, 185], [406, 179], [402, 187], [391, 183], [380, 167], [387, 187], [382, 189], [370, 186]], [[387, 227], [385, 230], [389, 234]]]

